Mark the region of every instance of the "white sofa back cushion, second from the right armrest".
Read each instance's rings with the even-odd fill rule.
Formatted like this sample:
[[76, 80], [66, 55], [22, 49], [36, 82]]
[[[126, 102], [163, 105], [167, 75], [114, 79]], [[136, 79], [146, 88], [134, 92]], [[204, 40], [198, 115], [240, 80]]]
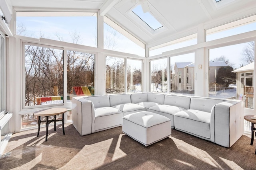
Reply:
[[191, 98], [187, 96], [166, 95], [164, 104], [190, 109], [190, 100]]

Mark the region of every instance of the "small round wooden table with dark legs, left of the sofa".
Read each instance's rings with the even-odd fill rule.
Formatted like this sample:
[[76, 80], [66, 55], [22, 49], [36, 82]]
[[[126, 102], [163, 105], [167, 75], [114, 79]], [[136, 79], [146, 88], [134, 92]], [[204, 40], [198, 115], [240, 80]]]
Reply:
[[[64, 113], [67, 112], [66, 108], [51, 108], [51, 109], [43, 109], [43, 110], [39, 110], [34, 112], [34, 115], [38, 116], [38, 131], [37, 131], [37, 137], [39, 136], [39, 131], [40, 131], [40, 124], [41, 122], [46, 122], [46, 137], [45, 137], [45, 141], [47, 141], [47, 137], [48, 137], [48, 127], [49, 124], [54, 121], [54, 131], [56, 131], [56, 121], [62, 121], [62, 131], [63, 131], [63, 135], [65, 135], [65, 131], [64, 131]], [[56, 115], [60, 115], [62, 114], [62, 119], [56, 119]], [[46, 120], [41, 120], [41, 116], [45, 116]], [[49, 120], [49, 116], [54, 116], [53, 119]]]

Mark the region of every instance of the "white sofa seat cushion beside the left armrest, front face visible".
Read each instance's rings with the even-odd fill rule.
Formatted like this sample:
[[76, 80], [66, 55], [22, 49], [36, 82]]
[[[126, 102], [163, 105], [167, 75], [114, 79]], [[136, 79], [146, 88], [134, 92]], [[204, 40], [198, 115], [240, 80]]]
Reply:
[[113, 107], [99, 107], [95, 109], [95, 131], [110, 129], [122, 125], [122, 111]]

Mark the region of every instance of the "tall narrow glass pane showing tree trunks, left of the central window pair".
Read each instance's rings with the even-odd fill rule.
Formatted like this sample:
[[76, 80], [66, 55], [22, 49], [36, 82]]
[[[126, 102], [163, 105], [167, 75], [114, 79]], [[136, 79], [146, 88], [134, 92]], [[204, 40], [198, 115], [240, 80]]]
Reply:
[[124, 88], [124, 59], [106, 57], [106, 94], [123, 93]]

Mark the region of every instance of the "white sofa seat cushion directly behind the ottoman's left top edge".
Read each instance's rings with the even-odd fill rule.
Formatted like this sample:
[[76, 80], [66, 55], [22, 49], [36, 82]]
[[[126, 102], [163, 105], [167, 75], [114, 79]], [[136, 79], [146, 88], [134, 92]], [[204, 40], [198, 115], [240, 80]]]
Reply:
[[139, 111], [146, 111], [146, 108], [143, 106], [140, 106], [138, 104], [133, 104], [133, 103], [127, 103], [127, 104], [118, 104], [115, 106], [112, 106], [120, 111], [123, 112], [123, 116], [131, 114], [131, 113], [136, 113]]

